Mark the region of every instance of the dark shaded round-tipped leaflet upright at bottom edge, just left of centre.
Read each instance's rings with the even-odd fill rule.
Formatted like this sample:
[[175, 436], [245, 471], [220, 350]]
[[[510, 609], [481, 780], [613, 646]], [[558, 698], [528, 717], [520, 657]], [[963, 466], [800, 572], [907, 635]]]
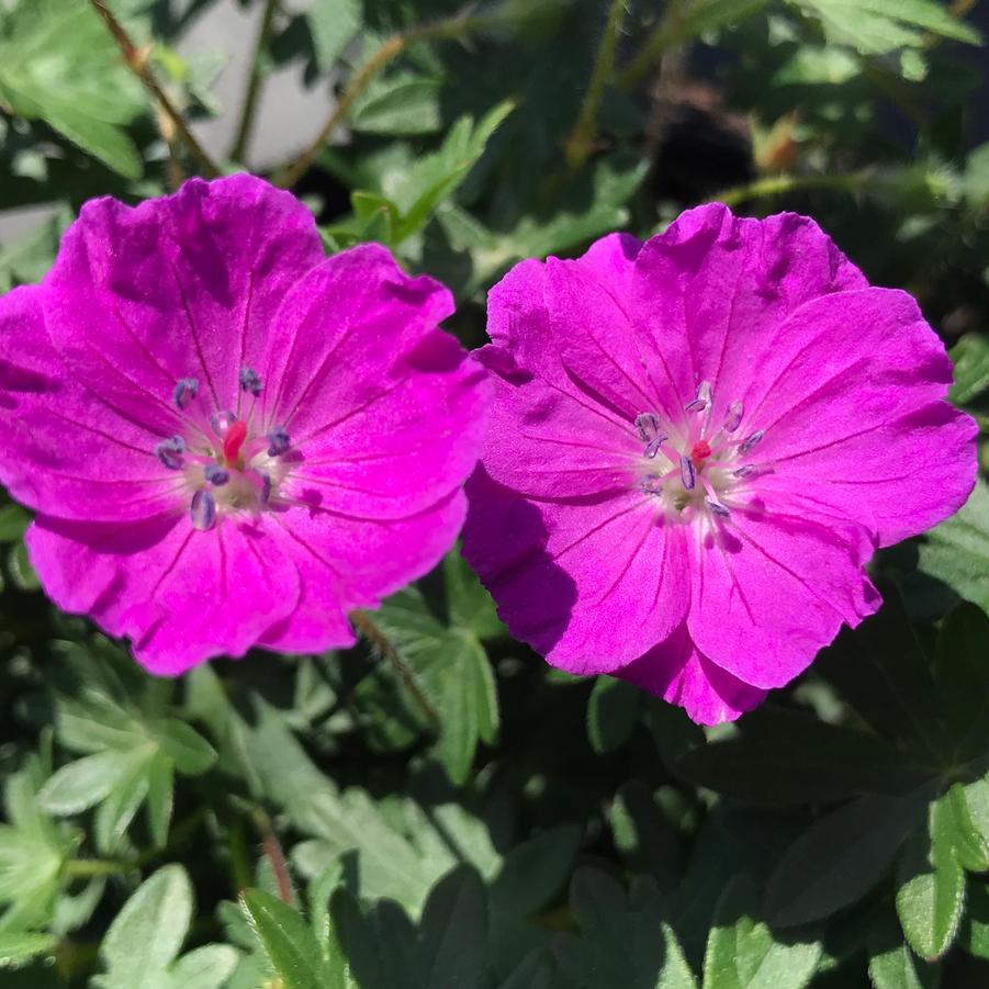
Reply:
[[419, 929], [427, 989], [481, 989], [486, 965], [487, 897], [473, 869], [458, 868], [434, 887]]

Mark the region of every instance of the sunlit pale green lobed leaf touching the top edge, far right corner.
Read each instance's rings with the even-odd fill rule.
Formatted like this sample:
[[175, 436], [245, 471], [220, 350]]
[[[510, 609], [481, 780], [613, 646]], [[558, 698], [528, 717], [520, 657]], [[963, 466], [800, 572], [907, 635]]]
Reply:
[[851, 45], [864, 55], [884, 55], [901, 47], [921, 47], [924, 32], [980, 44], [981, 36], [931, 0], [790, 0], [821, 21], [824, 36]]

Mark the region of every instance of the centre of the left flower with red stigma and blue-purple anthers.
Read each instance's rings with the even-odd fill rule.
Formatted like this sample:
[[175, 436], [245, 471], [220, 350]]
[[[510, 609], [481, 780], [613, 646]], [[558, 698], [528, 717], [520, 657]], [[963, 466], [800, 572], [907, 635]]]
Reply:
[[[240, 369], [238, 381], [252, 398], [261, 394], [261, 379], [250, 368]], [[182, 474], [192, 525], [205, 531], [229, 513], [259, 515], [284, 503], [280, 487], [291, 469], [284, 427], [273, 426], [267, 432], [255, 428], [252, 402], [244, 418], [228, 409], [207, 417], [193, 406], [198, 395], [196, 379], [178, 382], [172, 400], [181, 412], [190, 411], [189, 429], [155, 447], [164, 467]]]

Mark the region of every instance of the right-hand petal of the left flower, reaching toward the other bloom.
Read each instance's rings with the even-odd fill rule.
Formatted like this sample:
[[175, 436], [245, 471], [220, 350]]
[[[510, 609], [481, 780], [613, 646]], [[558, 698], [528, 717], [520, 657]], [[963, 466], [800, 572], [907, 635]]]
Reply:
[[460, 486], [480, 451], [488, 385], [436, 329], [451, 310], [446, 289], [408, 278], [377, 245], [330, 258], [290, 293], [271, 348], [280, 383], [260, 415], [299, 451], [296, 496], [401, 518]]

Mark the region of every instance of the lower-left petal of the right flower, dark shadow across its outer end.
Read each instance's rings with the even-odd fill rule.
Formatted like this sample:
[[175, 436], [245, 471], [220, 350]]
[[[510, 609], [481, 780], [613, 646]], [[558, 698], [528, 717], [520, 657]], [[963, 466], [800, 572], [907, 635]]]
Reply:
[[640, 492], [522, 501], [479, 470], [468, 483], [464, 558], [517, 639], [571, 673], [609, 673], [679, 623], [684, 533]]

